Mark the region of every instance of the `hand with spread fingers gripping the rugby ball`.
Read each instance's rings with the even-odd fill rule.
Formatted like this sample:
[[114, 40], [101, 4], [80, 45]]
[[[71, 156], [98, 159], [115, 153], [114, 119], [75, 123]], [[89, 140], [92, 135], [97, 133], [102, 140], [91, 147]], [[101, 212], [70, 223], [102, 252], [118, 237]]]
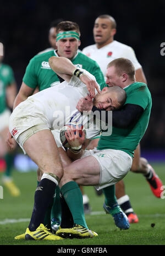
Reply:
[[79, 148], [83, 145], [85, 141], [85, 131], [83, 130], [82, 136], [79, 135], [79, 126], [76, 126], [76, 133], [74, 134], [74, 130], [72, 127], [69, 130], [69, 127], [67, 131], [65, 131], [65, 137], [68, 140], [68, 143], [71, 148], [76, 147]]

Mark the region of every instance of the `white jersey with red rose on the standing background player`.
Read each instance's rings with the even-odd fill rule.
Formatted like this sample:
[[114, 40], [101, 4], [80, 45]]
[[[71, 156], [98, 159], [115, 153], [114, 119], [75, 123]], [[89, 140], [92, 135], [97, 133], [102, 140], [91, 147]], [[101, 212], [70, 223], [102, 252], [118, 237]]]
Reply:
[[128, 58], [131, 62], [133, 62], [135, 70], [141, 68], [133, 48], [116, 40], [108, 43], [108, 45], [103, 46], [100, 49], [97, 48], [96, 44], [87, 46], [83, 49], [82, 52], [98, 63], [105, 79], [108, 63], [116, 58]]

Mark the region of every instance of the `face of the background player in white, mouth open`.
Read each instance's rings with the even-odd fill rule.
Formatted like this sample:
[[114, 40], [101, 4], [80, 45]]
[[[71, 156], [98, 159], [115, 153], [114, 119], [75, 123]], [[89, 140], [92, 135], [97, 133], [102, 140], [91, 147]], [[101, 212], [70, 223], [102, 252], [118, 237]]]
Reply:
[[111, 20], [97, 18], [93, 32], [95, 43], [97, 43], [98, 46], [104, 46], [113, 41], [116, 29], [112, 29]]

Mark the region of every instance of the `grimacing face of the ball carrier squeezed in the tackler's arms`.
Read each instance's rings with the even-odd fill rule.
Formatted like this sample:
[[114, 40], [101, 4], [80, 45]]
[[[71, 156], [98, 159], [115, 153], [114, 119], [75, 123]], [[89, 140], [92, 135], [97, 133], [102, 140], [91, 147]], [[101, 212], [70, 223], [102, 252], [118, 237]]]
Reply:
[[94, 106], [99, 109], [116, 110], [119, 108], [117, 92], [109, 92], [107, 87], [103, 88], [101, 94], [96, 94]]

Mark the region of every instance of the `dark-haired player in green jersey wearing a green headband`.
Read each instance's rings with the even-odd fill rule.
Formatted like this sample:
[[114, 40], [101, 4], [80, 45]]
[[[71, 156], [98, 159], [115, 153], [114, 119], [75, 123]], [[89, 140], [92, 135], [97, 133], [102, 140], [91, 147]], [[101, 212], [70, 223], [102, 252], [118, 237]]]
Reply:
[[[78, 50], [81, 43], [79, 25], [72, 21], [62, 21], [57, 25], [56, 29], [58, 34], [58, 38], [56, 39], [57, 49], [36, 55], [30, 60], [26, 67], [23, 83], [21, 84], [18, 95], [14, 101], [13, 109], [20, 102], [32, 95], [37, 87], [41, 91], [60, 83], [57, 74], [53, 72], [48, 63], [48, 59], [52, 56], [62, 56], [70, 59], [75, 67], [86, 69], [94, 75], [98, 84], [104, 81], [103, 74], [98, 64]], [[76, 34], [72, 33], [72, 35], [68, 36], [68, 31], [75, 32]], [[59, 200], [59, 190], [56, 190], [56, 194], [56, 199]], [[57, 209], [57, 205], [59, 206], [59, 209]], [[56, 227], [56, 223], [59, 224], [61, 221], [60, 204], [57, 204], [57, 202], [54, 203], [53, 206], [50, 207], [50, 211], [51, 209], [52, 217], [50, 217], [50, 213], [47, 213], [45, 223], [48, 223], [49, 219], [54, 218], [52, 226]], [[48, 228], [50, 228], [50, 226]]]

